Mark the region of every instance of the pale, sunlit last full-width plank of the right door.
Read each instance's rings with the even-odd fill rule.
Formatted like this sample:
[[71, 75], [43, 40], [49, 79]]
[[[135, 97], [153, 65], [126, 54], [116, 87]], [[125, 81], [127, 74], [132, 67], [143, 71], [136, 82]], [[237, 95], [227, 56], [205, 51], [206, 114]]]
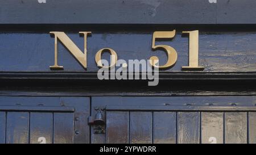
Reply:
[[225, 143], [247, 143], [246, 112], [225, 112]]

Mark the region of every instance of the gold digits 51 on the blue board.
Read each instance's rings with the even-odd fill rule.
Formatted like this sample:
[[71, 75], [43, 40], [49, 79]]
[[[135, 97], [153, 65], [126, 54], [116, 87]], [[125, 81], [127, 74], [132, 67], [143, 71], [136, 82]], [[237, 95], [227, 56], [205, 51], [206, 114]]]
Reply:
[[[156, 56], [150, 57], [150, 64], [159, 69], [170, 68], [177, 61], [177, 52], [174, 48], [168, 45], [155, 45], [156, 39], [174, 39], [176, 30], [174, 31], [155, 31], [152, 37], [152, 49], [163, 49], [167, 54], [167, 62], [162, 66], [155, 65], [159, 61]], [[198, 66], [198, 51], [199, 51], [199, 31], [183, 31], [189, 36], [189, 60], [188, 66], [182, 66], [182, 70], [204, 70], [203, 66]]]

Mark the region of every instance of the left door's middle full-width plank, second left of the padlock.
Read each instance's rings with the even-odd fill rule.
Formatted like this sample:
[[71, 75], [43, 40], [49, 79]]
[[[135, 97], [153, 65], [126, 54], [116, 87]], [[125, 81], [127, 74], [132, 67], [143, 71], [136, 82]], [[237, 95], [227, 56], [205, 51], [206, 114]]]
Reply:
[[31, 112], [30, 143], [52, 143], [52, 113]]

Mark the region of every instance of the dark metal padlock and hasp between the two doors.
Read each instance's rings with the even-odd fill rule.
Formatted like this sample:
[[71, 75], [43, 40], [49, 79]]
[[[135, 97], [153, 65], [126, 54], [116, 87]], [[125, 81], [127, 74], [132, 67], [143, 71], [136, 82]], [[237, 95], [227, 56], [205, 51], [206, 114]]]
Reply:
[[89, 116], [88, 124], [93, 125], [94, 133], [105, 133], [105, 108], [96, 107], [94, 108], [94, 118]]

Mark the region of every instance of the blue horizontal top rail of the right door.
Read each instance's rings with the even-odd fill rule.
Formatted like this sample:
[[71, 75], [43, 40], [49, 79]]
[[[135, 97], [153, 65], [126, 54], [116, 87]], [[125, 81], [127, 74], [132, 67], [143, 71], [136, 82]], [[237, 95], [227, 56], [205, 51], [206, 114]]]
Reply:
[[[175, 110], [175, 106], [184, 107], [184, 109], [192, 109], [196, 106], [214, 109], [215, 106], [229, 106], [236, 109], [236, 106], [250, 106], [255, 108], [254, 96], [199, 96], [199, 97], [92, 97], [94, 106], [117, 107], [115, 110], [124, 110], [130, 107], [131, 110], [148, 110], [154, 107], [162, 107], [163, 110]], [[125, 107], [126, 106], [126, 107]], [[135, 108], [133, 108], [135, 106]], [[137, 107], [136, 107], [137, 106]], [[141, 108], [139, 108], [141, 107]], [[190, 108], [189, 108], [190, 107]], [[218, 107], [220, 108], [220, 107]], [[157, 108], [155, 108], [157, 109]], [[200, 110], [197, 108], [197, 110]]]

